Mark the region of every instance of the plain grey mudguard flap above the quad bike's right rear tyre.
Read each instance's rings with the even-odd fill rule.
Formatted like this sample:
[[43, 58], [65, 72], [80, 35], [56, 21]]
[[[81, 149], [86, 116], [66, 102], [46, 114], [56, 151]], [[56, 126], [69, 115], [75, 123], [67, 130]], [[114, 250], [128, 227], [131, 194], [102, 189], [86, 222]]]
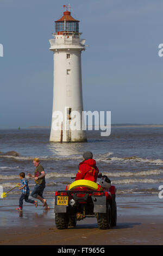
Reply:
[[94, 210], [96, 213], [106, 213], [106, 197], [93, 197]]

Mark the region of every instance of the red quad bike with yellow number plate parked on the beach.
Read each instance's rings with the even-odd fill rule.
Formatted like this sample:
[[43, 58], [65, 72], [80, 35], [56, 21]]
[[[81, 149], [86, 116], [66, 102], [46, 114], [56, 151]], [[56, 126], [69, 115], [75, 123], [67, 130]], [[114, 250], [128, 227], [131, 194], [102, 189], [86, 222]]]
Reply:
[[95, 191], [89, 188], [55, 192], [55, 224], [57, 229], [75, 227], [77, 221], [96, 217], [99, 229], [116, 226], [116, 188]]

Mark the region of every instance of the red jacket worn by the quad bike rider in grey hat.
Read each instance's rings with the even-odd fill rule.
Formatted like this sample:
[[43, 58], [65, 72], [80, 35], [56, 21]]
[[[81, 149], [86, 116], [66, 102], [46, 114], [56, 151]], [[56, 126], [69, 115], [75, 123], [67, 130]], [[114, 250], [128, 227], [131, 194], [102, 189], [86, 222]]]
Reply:
[[96, 166], [96, 161], [88, 159], [79, 163], [79, 170], [76, 175], [76, 180], [91, 180], [96, 182], [99, 170]]

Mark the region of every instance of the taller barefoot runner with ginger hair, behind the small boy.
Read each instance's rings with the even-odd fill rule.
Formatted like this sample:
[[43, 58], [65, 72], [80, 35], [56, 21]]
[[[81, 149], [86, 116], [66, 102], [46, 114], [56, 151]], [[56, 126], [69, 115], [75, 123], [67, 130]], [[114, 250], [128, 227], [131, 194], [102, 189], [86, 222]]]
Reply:
[[43, 190], [45, 189], [45, 172], [38, 158], [35, 158], [33, 160], [33, 164], [36, 167], [35, 174], [34, 175], [30, 173], [28, 174], [29, 177], [35, 179], [35, 183], [36, 183], [34, 190], [31, 193], [31, 196], [39, 199], [43, 203], [43, 207], [45, 206], [45, 209], [48, 210], [49, 206], [46, 203], [47, 200], [44, 199], [42, 196]]

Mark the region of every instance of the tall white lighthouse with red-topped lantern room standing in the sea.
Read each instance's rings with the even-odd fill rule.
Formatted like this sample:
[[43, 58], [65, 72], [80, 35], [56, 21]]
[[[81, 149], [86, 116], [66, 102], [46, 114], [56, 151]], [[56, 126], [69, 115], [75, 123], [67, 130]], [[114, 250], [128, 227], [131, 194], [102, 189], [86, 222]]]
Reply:
[[49, 40], [54, 56], [53, 112], [51, 142], [86, 142], [83, 129], [81, 54], [85, 40], [80, 39], [79, 21], [71, 16], [70, 5], [55, 21], [54, 39]]

